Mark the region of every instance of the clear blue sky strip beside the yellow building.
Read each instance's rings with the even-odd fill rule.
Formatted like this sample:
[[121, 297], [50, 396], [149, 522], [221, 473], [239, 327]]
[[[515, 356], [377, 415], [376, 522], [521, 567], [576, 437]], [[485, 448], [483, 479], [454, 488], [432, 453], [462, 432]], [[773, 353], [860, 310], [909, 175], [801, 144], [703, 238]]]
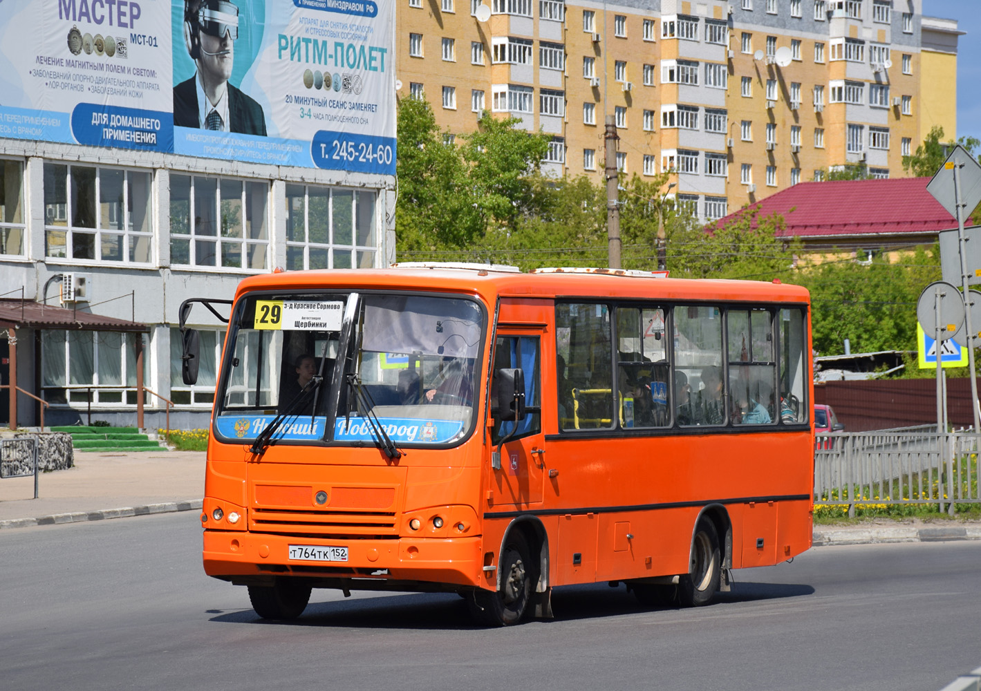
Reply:
[[[957, 137], [981, 139], [981, 2], [923, 0], [923, 14], [957, 21]], [[945, 132], [950, 135], [950, 132]]]

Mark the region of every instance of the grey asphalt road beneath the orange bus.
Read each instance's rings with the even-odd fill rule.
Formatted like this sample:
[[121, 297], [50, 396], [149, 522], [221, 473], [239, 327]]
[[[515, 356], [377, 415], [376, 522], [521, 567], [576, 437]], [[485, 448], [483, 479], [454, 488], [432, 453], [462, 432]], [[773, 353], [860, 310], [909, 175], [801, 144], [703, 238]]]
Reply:
[[200, 566], [187, 512], [0, 534], [0, 688], [917, 689], [981, 666], [981, 543], [821, 547], [697, 610], [558, 589], [484, 629], [455, 595], [315, 590], [293, 623]]

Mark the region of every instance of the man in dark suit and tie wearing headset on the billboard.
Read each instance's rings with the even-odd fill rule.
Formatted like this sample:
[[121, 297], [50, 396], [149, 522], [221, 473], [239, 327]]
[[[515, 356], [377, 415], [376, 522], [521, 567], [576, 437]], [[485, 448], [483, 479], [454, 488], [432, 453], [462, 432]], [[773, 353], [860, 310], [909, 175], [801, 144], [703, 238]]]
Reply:
[[183, 26], [197, 74], [174, 87], [174, 124], [266, 136], [262, 107], [229, 83], [238, 8], [227, 0], [185, 0]]

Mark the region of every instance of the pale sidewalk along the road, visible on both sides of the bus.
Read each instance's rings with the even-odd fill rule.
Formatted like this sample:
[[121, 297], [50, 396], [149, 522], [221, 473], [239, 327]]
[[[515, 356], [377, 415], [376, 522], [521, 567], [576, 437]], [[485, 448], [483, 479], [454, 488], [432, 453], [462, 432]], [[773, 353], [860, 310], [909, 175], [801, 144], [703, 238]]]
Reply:
[[[0, 530], [201, 508], [204, 452], [78, 452], [75, 468], [0, 479]], [[981, 521], [873, 521], [814, 526], [814, 546], [981, 540]]]

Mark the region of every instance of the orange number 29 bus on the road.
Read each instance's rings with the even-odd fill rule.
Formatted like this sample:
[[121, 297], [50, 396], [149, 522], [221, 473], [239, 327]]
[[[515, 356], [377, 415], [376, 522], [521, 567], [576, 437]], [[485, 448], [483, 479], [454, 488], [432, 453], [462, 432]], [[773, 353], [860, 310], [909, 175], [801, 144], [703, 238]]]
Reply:
[[492, 625], [551, 617], [551, 589], [573, 583], [708, 604], [731, 569], [811, 544], [809, 323], [806, 290], [776, 281], [466, 264], [247, 278], [204, 569], [278, 619], [312, 588], [455, 591]]

